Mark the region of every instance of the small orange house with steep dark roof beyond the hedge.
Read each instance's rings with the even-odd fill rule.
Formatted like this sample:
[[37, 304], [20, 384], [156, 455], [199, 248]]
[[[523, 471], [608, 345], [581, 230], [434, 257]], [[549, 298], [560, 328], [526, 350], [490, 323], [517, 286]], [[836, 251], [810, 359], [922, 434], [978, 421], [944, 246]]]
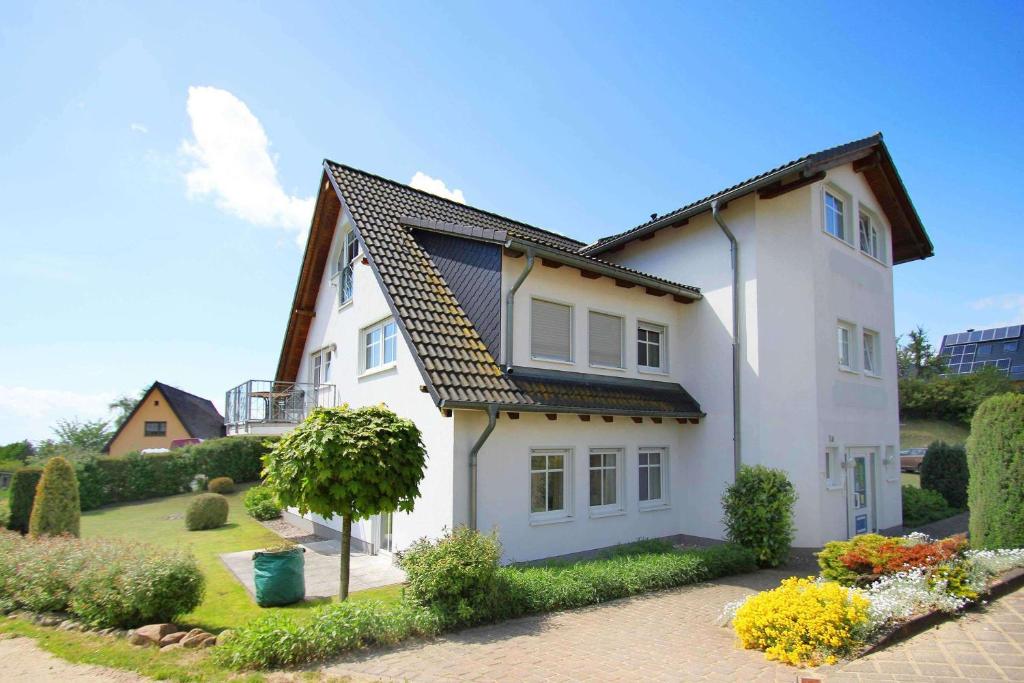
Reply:
[[208, 398], [154, 382], [103, 446], [103, 453], [122, 456], [145, 449], [170, 449], [174, 441], [223, 435], [224, 419]]

